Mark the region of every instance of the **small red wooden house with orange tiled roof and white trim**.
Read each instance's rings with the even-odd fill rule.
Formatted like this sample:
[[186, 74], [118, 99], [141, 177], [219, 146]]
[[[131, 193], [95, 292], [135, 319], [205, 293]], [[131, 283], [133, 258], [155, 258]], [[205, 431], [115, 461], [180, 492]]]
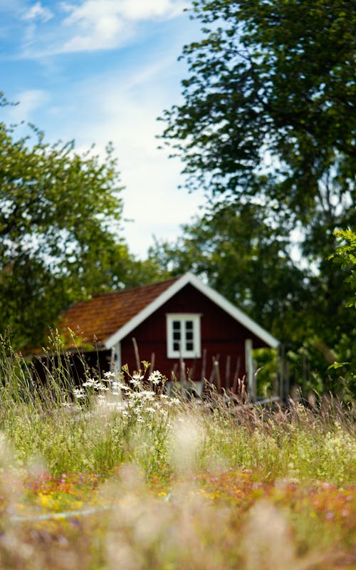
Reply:
[[[99, 350], [102, 371], [141, 360], [179, 379], [211, 379], [236, 390], [237, 375], [253, 387], [252, 348], [277, 348], [278, 341], [255, 321], [191, 273], [137, 289], [94, 296], [71, 306], [64, 328], [80, 336], [85, 356]], [[90, 358], [88, 346], [93, 346]], [[219, 362], [219, 366], [216, 363]]]

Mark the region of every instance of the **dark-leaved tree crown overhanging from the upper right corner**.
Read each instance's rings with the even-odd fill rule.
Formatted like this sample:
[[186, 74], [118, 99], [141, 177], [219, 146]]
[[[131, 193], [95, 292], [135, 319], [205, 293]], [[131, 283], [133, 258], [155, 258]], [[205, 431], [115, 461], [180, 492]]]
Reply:
[[[254, 199], [320, 255], [355, 219], [355, 1], [197, 0], [204, 39], [184, 48], [184, 103], [163, 138], [191, 188]], [[322, 232], [324, 233], [324, 232]], [[325, 235], [323, 236], [325, 238]]]

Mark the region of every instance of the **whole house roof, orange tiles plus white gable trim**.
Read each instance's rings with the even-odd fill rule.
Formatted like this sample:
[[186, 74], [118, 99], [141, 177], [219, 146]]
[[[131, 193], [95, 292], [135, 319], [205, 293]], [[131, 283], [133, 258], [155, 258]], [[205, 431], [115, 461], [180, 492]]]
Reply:
[[81, 301], [63, 313], [62, 322], [74, 333], [79, 331], [81, 338], [86, 338], [87, 342], [95, 336], [105, 348], [112, 348], [187, 284], [198, 289], [268, 346], [278, 346], [276, 338], [191, 273], [162, 283]]

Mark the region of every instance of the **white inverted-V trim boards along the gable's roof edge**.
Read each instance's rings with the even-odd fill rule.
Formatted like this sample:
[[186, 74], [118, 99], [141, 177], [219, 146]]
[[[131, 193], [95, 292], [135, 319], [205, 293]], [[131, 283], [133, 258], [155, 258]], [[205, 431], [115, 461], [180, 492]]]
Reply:
[[119, 328], [116, 333], [110, 336], [107, 341], [105, 341], [106, 348], [112, 348], [117, 342], [122, 341], [122, 338], [125, 338], [131, 331], [134, 330], [137, 326], [139, 326], [143, 321], [145, 321], [149, 316], [151, 316], [159, 307], [161, 307], [164, 303], [169, 301], [175, 294], [177, 294], [183, 287], [187, 284], [191, 284], [195, 287], [198, 291], [200, 291], [203, 295], [208, 297], [211, 301], [213, 301], [217, 306], [219, 306], [223, 311], [227, 314], [232, 316], [236, 321], [241, 323], [241, 325], [245, 326], [248, 331], [251, 331], [254, 335], [261, 338], [261, 341], [271, 346], [271, 348], [277, 348], [279, 341], [274, 338], [270, 333], [268, 333], [264, 328], [259, 326], [252, 318], [248, 317], [245, 313], [237, 309], [230, 301], [227, 301], [222, 295], [220, 295], [214, 289], [211, 289], [208, 285], [205, 285], [192, 273], [186, 273], [177, 281], [174, 281], [168, 289], [163, 291], [152, 303], [147, 305], [145, 309], [142, 309], [140, 313], [137, 313], [130, 321], [128, 321], [124, 326]]

